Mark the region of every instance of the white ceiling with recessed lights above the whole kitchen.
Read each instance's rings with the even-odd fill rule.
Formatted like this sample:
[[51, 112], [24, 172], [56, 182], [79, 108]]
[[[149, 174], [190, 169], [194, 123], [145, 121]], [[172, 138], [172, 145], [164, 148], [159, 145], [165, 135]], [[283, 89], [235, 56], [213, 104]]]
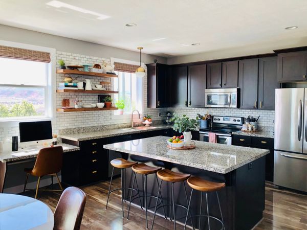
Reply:
[[[0, 0], [0, 24], [133, 51], [143, 46], [144, 53], [164, 57], [274, 44], [307, 35], [305, 0], [52, 2], [58, 8], [50, 6], [51, 1]], [[109, 17], [103, 19], [105, 15]], [[126, 27], [128, 22], [137, 26]], [[289, 26], [298, 29], [284, 30]], [[159, 38], [165, 39], [153, 41]], [[201, 44], [190, 45], [195, 42]]]

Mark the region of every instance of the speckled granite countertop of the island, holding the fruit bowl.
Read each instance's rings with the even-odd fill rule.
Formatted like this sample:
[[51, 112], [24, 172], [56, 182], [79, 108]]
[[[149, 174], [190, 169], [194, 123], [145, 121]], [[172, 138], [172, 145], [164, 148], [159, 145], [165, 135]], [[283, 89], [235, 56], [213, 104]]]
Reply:
[[104, 145], [105, 149], [145, 156], [179, 165], [226, 174], [269, 153], [269, 150], [195, 141], [196, 148], [172, 150], [167, 136]]

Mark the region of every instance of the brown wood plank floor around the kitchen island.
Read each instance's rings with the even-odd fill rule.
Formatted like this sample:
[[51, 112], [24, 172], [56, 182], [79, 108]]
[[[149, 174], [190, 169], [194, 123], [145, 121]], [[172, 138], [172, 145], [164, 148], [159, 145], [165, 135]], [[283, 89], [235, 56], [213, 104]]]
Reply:
[[[115, 179], [115, 186], [120, 186], [120, 179]], [[129, 220], [122, 218], [121, 192], [117, 191], [109, 199], [105, 210], [108, 181], [83, 187], [86, 193], [86, 205], [81, 229], [138, 230], [145, 229], [145, 212], [131, 205]], [[33, 196], [33, 192], [26, 195]], [[54, 211], [60, 197], [57, 192], [40, 192], [38, 199], [47, 203]], [[128, 204], [125, 203], [125, 215]], [[148, 225], [152, 222], [152, 214], [148, 215]], [[173, 229], [173, 223], [158, 217], [154, 229]], [[183, 229], [182, 225], [177, 229]], [[254, 228], [262, 229], [307, 229], [307, 195], [288, 190], [278, 190], [271, 183], [266, 184], [266, 209], [264, 219]]]

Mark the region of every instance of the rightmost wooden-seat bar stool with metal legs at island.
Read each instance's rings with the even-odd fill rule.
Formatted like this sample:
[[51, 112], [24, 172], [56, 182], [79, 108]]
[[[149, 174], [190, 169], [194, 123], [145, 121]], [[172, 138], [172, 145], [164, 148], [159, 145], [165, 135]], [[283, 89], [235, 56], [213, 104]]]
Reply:
[[[201, 219], [202, 216], [206, 216], [208, 218], [208, 229], [210, 230], [210, 218], [217, 220], [218, 222], [220, 222], [222, 224], [222, 228], [221, 229], [225, 229], [224, 227], [224, 220], [223, 220], [223, 214], [222, 214], [222, 209], [221, 209], [221, 204], [220, 204], [220, 199], [218, 198], [218, 194], [217, 191], [221, 190], [222, 188], [225, 187], [225, 183], [218, 183], [218, 182], [213, 182], [213, 181], [209, 181], [209, 180], [204, 180], [198, 176], [193, 176], [190, 177], [188, 180], [188, 185], [192, 188], [191, 191], [191, 196], [190, 196], [190, 200], [189, 200], [189, 205], [188, 205], [188, 212], [190, 210], [190, 205], [191, 205], [191, 198], [192, 198], [192, 194], [194, 190], [198, 190], [200, 192], [202, 192], [201, 195], [201, 209], [200, 209], [200, 215], [195, 215], [190, 217], [189, 219], [193, 218], [193, 217], [197, 217], [199, 216], [199, 229], [201, 229]], [[202, 203], [203, 203], [203, 193], [206, 192], [206, 204], [207, 204], [207, 215], [202, 215]], [[217, 197], [217, 203], [218, 203], [218, 207], [220, 208], [220, 213], [221, 213], [221, 219], [218, 219], [214, 216], [210, 216], [209, 214], [209, 206], [208, 206], [208, 192], [215, 192], [216, 193], [216, 197]], [[186, 225], [187, 225], [187, 220], [188, 220], [188, 215], [186, 216], [186, 220], [185, 220], [185, 225], [184, 225], [184, 229], [186, 229]]]

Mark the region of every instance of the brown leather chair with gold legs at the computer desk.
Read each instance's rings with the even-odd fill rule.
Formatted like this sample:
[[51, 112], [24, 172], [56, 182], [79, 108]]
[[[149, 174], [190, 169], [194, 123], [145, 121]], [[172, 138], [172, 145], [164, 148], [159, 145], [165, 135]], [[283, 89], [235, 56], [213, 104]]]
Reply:
[[[35, 199], [37, 197], [38, 190], [40, 191], [63, 191], [61, 182], [57, 176], [57, 173], [61, 171], [63, 164], [63, 148], [62, 146], [55, 146], [49, 148], [43, 148], [39, 150], [35, 165], [33, 169], [25, 169], [26, 181], [24, 186], [24, 192], [26, 191], [26, 186], [28, 182], [29, 175], [38, 176]], [[51, 176], [52, 186], [53, 186], [53, 176], [56, 176], [60, 189], [61, 190], [53, 190], [53, 189], [38, 189], [40, 178], [42, 176]]]

